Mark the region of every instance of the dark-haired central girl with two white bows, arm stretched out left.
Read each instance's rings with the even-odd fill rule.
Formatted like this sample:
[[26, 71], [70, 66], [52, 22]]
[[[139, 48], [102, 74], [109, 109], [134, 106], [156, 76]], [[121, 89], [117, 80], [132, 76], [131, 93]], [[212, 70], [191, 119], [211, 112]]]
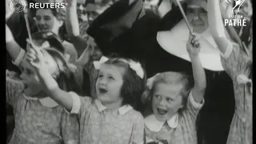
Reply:
[[97, 98], [90, 98], [61, 90], [46, 71], [40, 50], [33, 49], [29, 55], [50, 98], [78, 117], [81, 144], [143, 143], [143, 117], [134, 110], [146, 84], [140, 63], [116, 57], [102, 57], [94, 62], [98, 70]]

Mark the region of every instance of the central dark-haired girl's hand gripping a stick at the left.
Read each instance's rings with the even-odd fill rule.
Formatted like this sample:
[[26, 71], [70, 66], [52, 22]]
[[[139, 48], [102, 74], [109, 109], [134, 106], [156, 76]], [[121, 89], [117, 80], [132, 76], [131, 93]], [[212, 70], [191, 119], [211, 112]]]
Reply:
[[35, 70], [48, 70], [46, 68], [46, 60], [42, 54], [42, 51], [39, 50], [38, 47], [28, 49], [26, 53], [26, 59], [32, 66], [34, 66]]

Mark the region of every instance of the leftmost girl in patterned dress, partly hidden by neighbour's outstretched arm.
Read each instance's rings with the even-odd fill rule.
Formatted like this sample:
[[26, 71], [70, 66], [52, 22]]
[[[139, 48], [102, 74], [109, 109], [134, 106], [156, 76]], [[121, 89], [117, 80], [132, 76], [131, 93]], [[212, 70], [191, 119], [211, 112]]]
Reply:
[[[30, 53], [25, 54], [18, 45], [10, 45], [13, 41], [10, 30], [6, 26], [6, 48], [14, 64], [19, 66], [22, 74], [6, 70], [6, 102], [14, 107], [15, 128], [10, 144], [78, 144], [78, 120], [68, 114], [62, 106], [54, 102], [36, 74], [36, 70], [27, 59]], [[14, 42], [14, 41], [13, 41]], [[62, 90], [74, 90], [74, 77], [72, 72], [58, 50], [63, 50], [61, 43], [54, 47], [50, 42], [38, 43], [28, 41], [28, 46], [34, 46], [42, 51], [42, 57], [46, 59], [45, 70], [50, 77], [56, 79], [57, 85]], [[27, 47], [31, 51], [31, 47]], [[72, 83], [72, 85], [70, 85]]]

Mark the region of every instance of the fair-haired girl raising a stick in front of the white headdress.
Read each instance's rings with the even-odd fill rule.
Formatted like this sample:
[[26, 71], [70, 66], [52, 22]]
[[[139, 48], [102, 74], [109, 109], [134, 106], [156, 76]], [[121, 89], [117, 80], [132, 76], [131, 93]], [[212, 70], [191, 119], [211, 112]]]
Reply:
[[[197, 37], [196, 37], [197, 38]], [[206, 89], [206, 74], [198, 57], [200, 45], [190, 35], [186, 45], [192, 62], [194, 86], [186, 74], [164, 72], [147, 82], [144, 102], [147, 144], [197, 144], [196, 119]]]

